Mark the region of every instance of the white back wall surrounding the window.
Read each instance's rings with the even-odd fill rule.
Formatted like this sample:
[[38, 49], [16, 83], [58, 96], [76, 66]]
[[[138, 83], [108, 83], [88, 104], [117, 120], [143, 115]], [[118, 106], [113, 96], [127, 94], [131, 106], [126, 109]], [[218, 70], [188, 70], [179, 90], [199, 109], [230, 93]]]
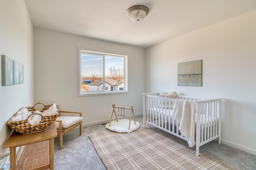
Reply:
[[[128, 55], [128, 94], [78, 97], [77, 47]], [[35, 101], [56, 103], [60, 110], [81, 111], [83, 123], [109, 120], [112, 104], [142, 113], [145, 49], [81, 36], [34, 29]], [[127, 111], [128, 115], [130, 112]]]

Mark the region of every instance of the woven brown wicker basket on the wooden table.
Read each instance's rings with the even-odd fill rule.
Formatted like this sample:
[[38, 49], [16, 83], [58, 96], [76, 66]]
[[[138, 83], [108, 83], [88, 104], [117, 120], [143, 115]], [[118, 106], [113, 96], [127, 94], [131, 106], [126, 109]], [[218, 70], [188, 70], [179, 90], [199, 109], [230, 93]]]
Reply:
[[[35, 106], [38, 104], [44, 105], [43, 103], [36, 103], [34, 106], [26, 107], [26, 109], [28, 109], [29, 112], [30, 111], [32, 112], [32, 114], [29, 115], [28, 118], [32, 115], [40, 115], [39, 113], [34, 113], [36, 111]], [[44, 105], [44, 108], [40, 109], [40, 111], [41, 112], [45, 111], [45, 110], [49, 109], [49, 107], [51, 107], [51, 106], [52, 105]], [[16, 116], [17, 113], [14, 116]], [[38, 125], [31, 125], [30, 123], [28, 123], [28, 118], [26, 120], [21, 120], [21, 121], [12, 121], [12, 118], [11, 118], [11, 119], [9, 119], [7, 124], [16, 132], [19, 132], [21, 134], [30, 134], [30, 133], [41, 132], [41, 131], [46, 130], [46, 128], [49, 127], [50, 125], [52, 125], [52, 123], [54, 123], [56, 118], [58, 117], [57, 114], [51, 115], [51, 116], [42, 116], [42, 115], [40, 115], [40, 116], [42, 117], [42, 119]]]

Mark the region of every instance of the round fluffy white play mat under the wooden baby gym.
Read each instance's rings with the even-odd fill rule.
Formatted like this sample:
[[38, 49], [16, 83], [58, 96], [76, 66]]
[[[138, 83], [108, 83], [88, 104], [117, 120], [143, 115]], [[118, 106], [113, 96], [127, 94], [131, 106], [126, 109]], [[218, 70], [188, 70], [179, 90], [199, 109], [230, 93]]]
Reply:
[[140, 123], [136, 122], [134, 124], [134, 121], [131, 120], [130, 124], [130, 130], [128, 130], [129, 127], [129, 119], [119, 119], [118, 122], [112, 121], [111, 126], [109, 127], [109, 123], [106, 124], [106, 128], [109, 130], [115, 131], [115, 132], [127, 132], [130, 133], [133, 130], [136, 130], [140, 127]]

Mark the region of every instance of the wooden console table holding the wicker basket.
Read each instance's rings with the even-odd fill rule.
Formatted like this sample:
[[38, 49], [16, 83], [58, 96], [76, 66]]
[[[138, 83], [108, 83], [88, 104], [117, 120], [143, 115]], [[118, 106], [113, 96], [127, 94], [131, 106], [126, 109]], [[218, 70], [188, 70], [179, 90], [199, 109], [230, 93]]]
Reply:
[[46, 128], [43, 132], [36, 132], [31, 134], [20, 134], [16, 131], [5, 142], [3, 148], [10, 148], [10, 169], [16, 169], [16, 147], [24, 146], [27, 144], [33, 144], [37, 142], [42, 142], [44, 140], [49, 140], [49, 164], [38, 167], [39, 169], [49, 169], [54, 170], [54, 138], [57, 137], [56, 125], [53, 123]]

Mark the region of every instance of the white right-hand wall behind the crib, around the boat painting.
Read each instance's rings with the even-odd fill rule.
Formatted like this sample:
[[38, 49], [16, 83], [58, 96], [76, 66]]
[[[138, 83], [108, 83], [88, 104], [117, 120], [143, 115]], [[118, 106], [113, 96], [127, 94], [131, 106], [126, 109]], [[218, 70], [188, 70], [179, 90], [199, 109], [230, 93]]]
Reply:
[[[146, 49], [146, 91], [223, 98], [222, 142], [256, 154], [256, 10]], [[177, 63], [202, 59], [202, 87], [177, 85]]]

